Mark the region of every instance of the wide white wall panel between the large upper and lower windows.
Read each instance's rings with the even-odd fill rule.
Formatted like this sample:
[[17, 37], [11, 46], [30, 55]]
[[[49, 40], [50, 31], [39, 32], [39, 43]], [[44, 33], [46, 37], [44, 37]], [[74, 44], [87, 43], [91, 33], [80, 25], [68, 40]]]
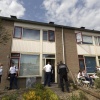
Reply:
[[40, 41], [13, 39], [12, 52], [40, 52]]

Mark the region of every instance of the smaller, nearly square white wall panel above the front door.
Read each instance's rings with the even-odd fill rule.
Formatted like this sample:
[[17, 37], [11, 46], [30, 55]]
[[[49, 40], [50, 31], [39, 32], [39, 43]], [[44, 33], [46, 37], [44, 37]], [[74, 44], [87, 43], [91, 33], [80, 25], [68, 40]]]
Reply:
[[43, 42], [43, 53], [56, 53], [55, 42]]

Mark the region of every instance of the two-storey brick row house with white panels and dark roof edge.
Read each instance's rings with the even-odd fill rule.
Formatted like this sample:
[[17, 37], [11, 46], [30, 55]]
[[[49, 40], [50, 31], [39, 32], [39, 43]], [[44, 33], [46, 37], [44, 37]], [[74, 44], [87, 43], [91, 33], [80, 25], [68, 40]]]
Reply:
[[[26, 87], [28, 77], [36, 77], [36, 82], [42, 83], [44, 79], [42, 68], [48, 61], [54, 66], [52, 80], [54, 83], [58, 83], [59, 61], [68, 65], [69, 76], [72, 79], [79, 69], [89, 67], [88, 72], [93, 73], [95, 66], [100, 63], [100, 31], [56, 25], [53, 22], [34, 22], [17, 19], [14, 16], [0, 19], [11, 35], [6, 45], [0, 44], [0, 62], [4, 64], [0, 84], [2, 88], [9, 86], [7, 72], [11, 60], [19, 68], [20, 88]], [[89, 63], [94, 64], [93, 68]]]

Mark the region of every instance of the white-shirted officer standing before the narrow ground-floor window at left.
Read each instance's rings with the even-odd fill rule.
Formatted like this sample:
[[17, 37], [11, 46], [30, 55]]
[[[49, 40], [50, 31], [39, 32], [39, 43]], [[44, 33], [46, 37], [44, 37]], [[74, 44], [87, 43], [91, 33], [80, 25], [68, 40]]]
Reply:
[[15, 85], [15, 89], [18, 89], [18, 85], [17, 85], [18, 68], [14, 65], [14, 62], [11, 63], [11, 67], [9, 69], [9, 74], [10, 74], [9, 90], [12, 89], [13, 83]]

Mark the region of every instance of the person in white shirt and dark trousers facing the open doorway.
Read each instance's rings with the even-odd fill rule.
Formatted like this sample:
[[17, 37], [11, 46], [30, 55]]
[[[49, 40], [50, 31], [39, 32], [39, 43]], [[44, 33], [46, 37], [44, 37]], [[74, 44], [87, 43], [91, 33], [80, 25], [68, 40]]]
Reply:
[[43, 67], [43, 69], [45, 70], [45, 80], [44, 80], [44, 86], [46, 86], [48, 84], [48, 86], [50, 87], [50, 79], [51, 79], [51, 65], [50, 62], [48, 62], [47, 65], [45, 65]]

